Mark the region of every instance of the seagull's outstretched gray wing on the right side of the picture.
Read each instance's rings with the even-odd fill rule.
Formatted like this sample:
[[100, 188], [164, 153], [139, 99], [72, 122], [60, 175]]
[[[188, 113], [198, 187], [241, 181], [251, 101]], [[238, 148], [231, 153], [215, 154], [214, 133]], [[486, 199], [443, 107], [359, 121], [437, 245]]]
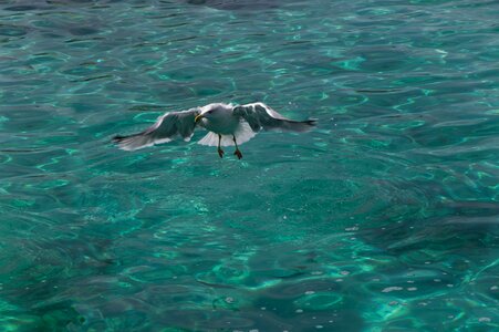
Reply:
[[263, 103], [252, 103], [233, 107], [233, 114], [242, 117], [253, 132], [260, 129], [284, 129], [292, 132], [306, 132], [316, 121], [294, 121], [288, 118]]

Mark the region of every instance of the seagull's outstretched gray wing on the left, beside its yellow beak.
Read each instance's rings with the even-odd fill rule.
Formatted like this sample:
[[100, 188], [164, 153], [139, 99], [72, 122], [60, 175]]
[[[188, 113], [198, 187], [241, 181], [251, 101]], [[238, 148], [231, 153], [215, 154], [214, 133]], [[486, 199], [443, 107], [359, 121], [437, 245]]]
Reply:
[[195, 117], [199, 108], [170, 112], [158, 117], [156, 123], [142, 133], [129, 136], [115, 136], [113, 142], [121, 149], [134, 151], [159, 143], [170, 142], [175, 136], [189, 141], [196, 127]]

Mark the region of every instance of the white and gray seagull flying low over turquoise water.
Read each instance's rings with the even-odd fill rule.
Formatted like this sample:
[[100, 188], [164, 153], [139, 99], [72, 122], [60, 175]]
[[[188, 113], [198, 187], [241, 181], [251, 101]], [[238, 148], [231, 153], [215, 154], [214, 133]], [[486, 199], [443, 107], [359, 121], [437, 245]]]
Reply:
[[250, 141], [261, 129], [306, 132], [315, 123], [315, 120], [287, 118], [263, 103], [246, 105], [214, 103], [187, 111], [165, 113], [144, 132], [129, 136], [117, 135], [113, 142], [124, 151], [167, 143], [177, 136], [189, 142], [194, 129], [200, 126], [207, 129], [208, 134], [198, 144], [217, 146], [220, 158], [225, 154], [221, 146], [236, 146], [233, 154], [241, 159], [239, 145]]

